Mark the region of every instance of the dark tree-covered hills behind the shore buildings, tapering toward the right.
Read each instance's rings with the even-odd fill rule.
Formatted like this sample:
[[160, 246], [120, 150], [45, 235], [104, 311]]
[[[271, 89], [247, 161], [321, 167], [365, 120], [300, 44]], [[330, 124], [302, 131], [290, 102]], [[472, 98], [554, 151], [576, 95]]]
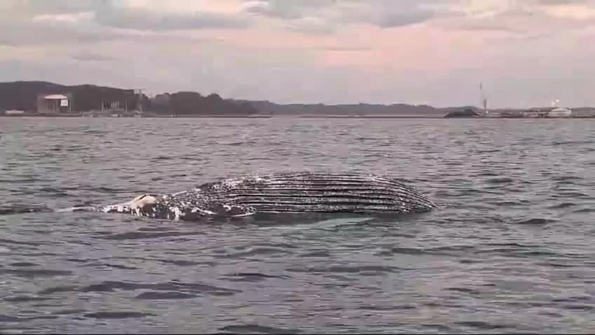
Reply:
[[[47, 81], [14, 81], [0, 83], [0, 110], [36, 110], [39, 94], [72, 93], [72, 109], [83, 112], [101, 110], [104, 102], [127, 104], [128, 109], [138, 109], [139, 96], [134, 90], [90, 84], [64, 86]], [[380, 105], [369, 103], [324, 105], [324, 104], [279, 104], [267, 100], [223, 99], [218, 94], [203, 96], [198, 92], [181, 91], [162, 93], [149, 99], [142, 96], [143, 110], [165, 115], [419, 115], [443, 116], [452, 110], [465, 108], [434, 108], [428, 105], [403, 103]]]

